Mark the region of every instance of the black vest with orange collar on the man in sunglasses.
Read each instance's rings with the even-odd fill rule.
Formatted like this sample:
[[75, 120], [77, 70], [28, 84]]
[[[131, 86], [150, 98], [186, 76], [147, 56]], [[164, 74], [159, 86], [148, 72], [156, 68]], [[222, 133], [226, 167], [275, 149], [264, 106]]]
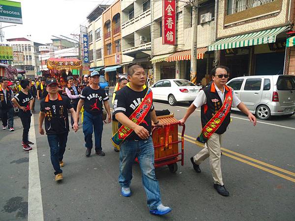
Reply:
[[[226, 97], [226, 94], [229, 92], [228, 89], [229, 88], [225, 86], [224, 97]], [[201, 121], [202, 121], [202, 127], [204, 128], [205, 125], [208, 123], [208, 121], [222, 107], [222, 101], [213, 83], [209, 83], [203, 90], [205, 92], [206, 99], [207, 99], [207, 103], [201, 107]], [[226, 128], [230, 122], [231, 122], [231, 109], [228, 115], [225, 117], [223, 123], [219, 126], [219, 128], [216, 130], [215, 133], [223, 134], [224, 132], [226, 132]]]

